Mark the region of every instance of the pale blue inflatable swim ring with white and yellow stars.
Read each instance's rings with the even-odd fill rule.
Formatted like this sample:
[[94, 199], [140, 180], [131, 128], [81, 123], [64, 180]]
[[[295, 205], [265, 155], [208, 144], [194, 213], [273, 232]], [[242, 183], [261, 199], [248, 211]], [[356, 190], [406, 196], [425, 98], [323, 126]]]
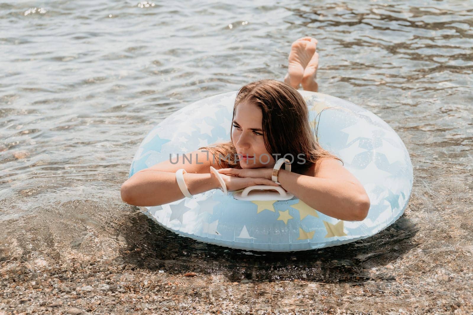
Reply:
[[[340, 157], [365, 188], [371, 206], [363, 221], [341, 221], [302, 200], [238, 200], [240, 191], [213, 189], [169, 204], [143, 207], [168, 230], [211, 244], [257, 251], [298, 251], [368, 238], [404, 212], [412, 191], [412, 164], [402, 140], [385, 121], [351, 102], [298, 91], [322, 147]], [[170, 154], [230, 139], [237, 91], [215, 95], [176, 111], [144, 138], [129, 177]], [[322, 109], [325, 109], [322, 111]], [[315, 130], [317, 129], [317, 130]]]

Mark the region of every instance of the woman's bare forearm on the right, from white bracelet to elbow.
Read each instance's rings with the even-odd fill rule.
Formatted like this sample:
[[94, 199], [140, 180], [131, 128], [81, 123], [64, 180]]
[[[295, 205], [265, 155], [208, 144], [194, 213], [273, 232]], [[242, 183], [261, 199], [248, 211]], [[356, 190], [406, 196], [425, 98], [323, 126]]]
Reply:
[[281, 187], [318, 212], [345, 221], [363, 220], [369, 209], [366, 192], [349, 181], [300, 175], [281, 169]]

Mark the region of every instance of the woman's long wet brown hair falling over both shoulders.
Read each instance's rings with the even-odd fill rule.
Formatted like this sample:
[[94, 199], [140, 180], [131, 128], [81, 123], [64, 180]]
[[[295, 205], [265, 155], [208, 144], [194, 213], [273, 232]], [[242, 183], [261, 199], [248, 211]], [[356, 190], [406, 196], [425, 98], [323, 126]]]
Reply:
[[[289, 160], [294, 160], [291, 171], [300, 174], [317, 160], [324, 158], [337, 159], [343, 163], [342, 159], [324, 150], [315, 139], [309, 124], [307, 104], [302, 95], [292, 86], [270, 79], [243, 86], [236, 94], [232, 121], [235, 118], [236, 106], [242, 102], [253, 103], [261, 109], [266, 150], [270, 154], [281, 154], [279, 157], [291, 154], [292, 158]], [[232, 128], [233, 123], [230, 127], [230, 138]], [[214, 154], [222, 168], [241, 169], [235, 158], [236, 148], [233, 145], [233, 139], [220, 144], [203, 146], [200, 149], [206, 149]], [[306, 160], [304, 164], [301, 164], [300, 160], [296, 162], [298, 154], [301, 153]], [[225, 157], [228, 160], [225, 160]]]

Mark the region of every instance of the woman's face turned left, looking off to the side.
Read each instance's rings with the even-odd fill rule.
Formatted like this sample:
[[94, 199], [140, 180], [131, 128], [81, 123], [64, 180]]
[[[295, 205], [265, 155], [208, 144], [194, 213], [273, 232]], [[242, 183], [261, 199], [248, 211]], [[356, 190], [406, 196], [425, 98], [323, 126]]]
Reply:
[[262, 121], [263, 112], [258, 106], [251, 103], [236, 105], [232, 140], [242, 169], [274, 167], [274, 157], [264, 146]]

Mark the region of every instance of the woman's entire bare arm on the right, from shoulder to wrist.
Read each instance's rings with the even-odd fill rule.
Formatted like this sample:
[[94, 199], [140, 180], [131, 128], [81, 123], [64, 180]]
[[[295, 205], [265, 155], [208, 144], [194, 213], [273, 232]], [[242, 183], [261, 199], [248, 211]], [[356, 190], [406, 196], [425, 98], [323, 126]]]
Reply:
[[280, 169], [278, 181], [281, 187], [318, 212], [344, 221], [366, 218], [370, 202], [365, 188], [340, 161], [324, 159], [311, 169], [314, 176]]

